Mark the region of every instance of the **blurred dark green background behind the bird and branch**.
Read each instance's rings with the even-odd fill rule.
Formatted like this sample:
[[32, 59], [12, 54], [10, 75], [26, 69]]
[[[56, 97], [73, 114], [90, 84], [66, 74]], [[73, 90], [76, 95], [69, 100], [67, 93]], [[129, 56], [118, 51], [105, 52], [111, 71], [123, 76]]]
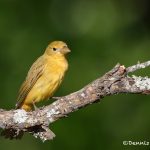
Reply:
[[[72, 50], [69, 71], [55, 94], [79, 90], [116, 63], [130, 66], [150, 59], [149, 0], [0, 0], [0, 107], [14, 108], [26, 73], [47, 44], [63, 40]], [[143, 69], [136, 75], [149, 75]], [[46, 105], [51, 103], [42, 103]], [[124, 140], [150, 141], [150, 98], [105, 97], [51, 125], [57, 135], [42, 143], [0, 137], [0, 150], [121, 150]]]

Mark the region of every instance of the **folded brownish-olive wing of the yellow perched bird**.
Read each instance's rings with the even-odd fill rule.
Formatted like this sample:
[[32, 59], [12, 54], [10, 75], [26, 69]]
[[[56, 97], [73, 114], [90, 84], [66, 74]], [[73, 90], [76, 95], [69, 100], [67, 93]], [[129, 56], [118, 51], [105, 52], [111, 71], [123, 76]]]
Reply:
[[41, 56], [31, 66], [26, 79], [19, 90], [16, 108], [19, 108], [22, 105], [28, 93], [31, 91], [37, 80], [42, 76], [44, 68], [45, 59], [43, 58], [43, 56]]

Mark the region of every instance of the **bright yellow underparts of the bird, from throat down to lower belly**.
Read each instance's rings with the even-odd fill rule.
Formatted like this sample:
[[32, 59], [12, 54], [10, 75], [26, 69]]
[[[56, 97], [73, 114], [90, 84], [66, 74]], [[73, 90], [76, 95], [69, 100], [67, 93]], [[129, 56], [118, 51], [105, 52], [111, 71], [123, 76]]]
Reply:
[[59, 59], [52, 61], [50, 59], [50, 61], [47, 61], [42, 76], [28, 94], [26, 102], [30, 102], [30, 99], [39, 102], [52, 97], [61, 84], [67, 68], [68, 63], [66, 60]]

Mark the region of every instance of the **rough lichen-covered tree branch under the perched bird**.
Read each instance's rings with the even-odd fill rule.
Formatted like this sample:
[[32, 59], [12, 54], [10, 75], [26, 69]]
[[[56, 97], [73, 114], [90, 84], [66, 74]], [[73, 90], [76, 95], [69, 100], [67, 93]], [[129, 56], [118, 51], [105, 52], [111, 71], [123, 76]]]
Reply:
[[58, 97], [52, 104], [32, 112], [22, 109], [0, 110], [0, 128], [6, 138], [21, 138], [29, 132], [41, 140], [51, 140], [55, 134], [49, 125], [80, 108], [100, 101], [105, 96], [116, 93], [150, 94], [150, 78], [129, 77], [128, 73], [150, 66], [150, 61], [125, 68], [117, 64], [104, 76], [96, 79], [81, 90], [67, 96]]

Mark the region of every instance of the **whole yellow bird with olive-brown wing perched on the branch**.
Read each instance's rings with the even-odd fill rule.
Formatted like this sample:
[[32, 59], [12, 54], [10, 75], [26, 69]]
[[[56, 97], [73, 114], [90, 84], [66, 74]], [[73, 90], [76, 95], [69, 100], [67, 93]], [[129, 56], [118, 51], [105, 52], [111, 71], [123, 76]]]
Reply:
[[66, 43], [54, 41], [31, 66], [18, 96], [16, 109], [31, 111], [34, 104], [53, 96], [68, 69]]

